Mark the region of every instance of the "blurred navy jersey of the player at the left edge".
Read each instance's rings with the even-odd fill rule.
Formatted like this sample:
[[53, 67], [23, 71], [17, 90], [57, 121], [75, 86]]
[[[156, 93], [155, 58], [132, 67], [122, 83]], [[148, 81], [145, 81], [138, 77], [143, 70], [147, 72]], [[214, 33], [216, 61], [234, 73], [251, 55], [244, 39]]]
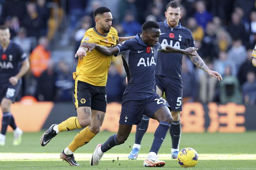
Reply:
[[10, 77], [19, 73], [21, 64], [26, 58], [26, 53], [12, 41], [5, 51], [0, 46], [0, 84], [8, 83]]

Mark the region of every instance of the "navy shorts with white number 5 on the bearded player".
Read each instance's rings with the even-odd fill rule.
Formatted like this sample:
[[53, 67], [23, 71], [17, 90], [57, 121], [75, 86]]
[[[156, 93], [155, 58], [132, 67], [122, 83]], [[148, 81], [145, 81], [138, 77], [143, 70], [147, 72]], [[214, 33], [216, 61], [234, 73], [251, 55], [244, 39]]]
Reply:
[[180, 79], [173, 79], [156, 75], [156, 86], [165, 92], [165, 98], [172, 108], [172, 111], [182, 111], [183, 85]]

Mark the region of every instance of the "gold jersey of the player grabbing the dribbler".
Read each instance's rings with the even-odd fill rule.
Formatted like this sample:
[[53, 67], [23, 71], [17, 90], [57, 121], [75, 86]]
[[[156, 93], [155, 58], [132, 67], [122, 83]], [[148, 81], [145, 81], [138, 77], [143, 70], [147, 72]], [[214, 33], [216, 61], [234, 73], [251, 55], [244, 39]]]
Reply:
[[[118, 39], [117, 30], [113, 27], [106, 35], [98, 33], [95, 28], [90, 28], [85, 32], [81, 44], [89, 42], [111, 48], [117, 44]], [[113, 55], [106, 56], [96, 49], [87, 52], [87, 55], [82, 60], [78, 60], [73, 78], [94, 86], [106, 86], [112, 57]]]

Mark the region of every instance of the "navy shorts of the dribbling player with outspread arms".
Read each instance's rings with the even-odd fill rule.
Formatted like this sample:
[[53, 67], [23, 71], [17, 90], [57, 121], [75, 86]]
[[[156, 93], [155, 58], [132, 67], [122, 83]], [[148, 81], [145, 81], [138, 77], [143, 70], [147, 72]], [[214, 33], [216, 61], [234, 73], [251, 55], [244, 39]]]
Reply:
[[143, 114], [153, 118], [154, 113], [162, 106], [171, 110], [168, 102], [158, 94], [149, 94], [143, 98], [145, 93], [126, 93], [122, 98], [122, 110], [119, 124], [139, 124]]

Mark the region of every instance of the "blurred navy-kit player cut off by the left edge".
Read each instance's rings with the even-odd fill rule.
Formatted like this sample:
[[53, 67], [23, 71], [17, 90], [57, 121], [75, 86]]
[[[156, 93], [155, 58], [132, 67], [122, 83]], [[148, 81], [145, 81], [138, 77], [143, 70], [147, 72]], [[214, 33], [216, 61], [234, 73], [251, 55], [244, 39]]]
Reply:
[[21, 143], [22, 130], [15, 124], [11, 114], [11, 103], [15, 101], [20, 86], [21, 77], [29, 69], [29, 61], [21, 47], [10, 41], [10, 30], [0, 26], [0, 101], [3, 112], [2, 129], [0, 133], [0, 146], [5, 145], [7, 126], [14, 130], [13, 144]]

